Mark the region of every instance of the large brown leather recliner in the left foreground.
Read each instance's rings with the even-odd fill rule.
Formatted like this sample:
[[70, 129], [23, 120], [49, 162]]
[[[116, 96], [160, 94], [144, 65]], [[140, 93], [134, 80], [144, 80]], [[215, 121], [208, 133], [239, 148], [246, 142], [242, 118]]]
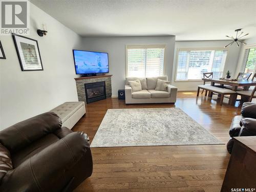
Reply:
[[0, 132], [0, 191], [72, 191], [93, 170], [89, 138], [53, 112]]

